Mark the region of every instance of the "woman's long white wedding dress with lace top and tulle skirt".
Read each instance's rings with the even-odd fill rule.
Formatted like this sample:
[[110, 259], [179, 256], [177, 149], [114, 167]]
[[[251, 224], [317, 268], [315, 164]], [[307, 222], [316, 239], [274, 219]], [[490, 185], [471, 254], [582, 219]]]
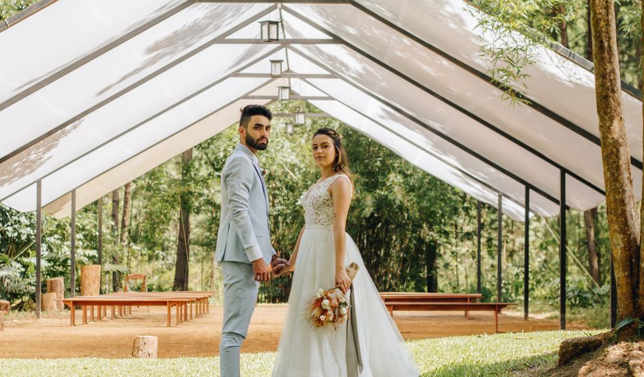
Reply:
[[[408, 354], [398, 328], [384, 306], [358, 247], [345, 234], [345, 265], [355, 262], [360, 270], [353, 282], [354, 306], [351, 315], [356, 328], [349, 333], [358, 335], [362, 372], [358, 374], [354, 342], [347, 341], [347, 323], [338, 330], [313, 328], [304, 317], [306, 304], [319, 289], [335, 286], [335, 241], [333, 199], [329, 187], [338, 178], [336, 174], [314, 184], [302, 197], [304, 234], [295, 260], [293, 284], [288, 297], [286, 324], [277, 348], [273, 376], [341, 377], [341, 376], [418, 376], [419, 372]], [[353, 330], [351, 332], [351, 330]], [[349, 351], [349, 356], [347, 356]], [[354, 356], [351, 356], [354, 355]]]

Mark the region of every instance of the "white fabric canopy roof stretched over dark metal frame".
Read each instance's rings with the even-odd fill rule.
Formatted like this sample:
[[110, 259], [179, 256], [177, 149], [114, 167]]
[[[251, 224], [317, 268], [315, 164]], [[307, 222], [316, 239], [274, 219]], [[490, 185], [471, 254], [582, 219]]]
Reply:
[[[562, 171], [567, 206], [603, 202], [589, 62], [539, 49], [530, 105], [512, 107], [486, 75], [468, 7], [41, 1], [0, 32], [0, 202], [34, 210], [42, 180], [44, 209], [65, 217], [72, 190], [82, 208], [234, 124], [241, 106], [274, 101], [285, 84], [476, 199], [496, 207], [502, 195], [512, 219], [524, 219], [526, 187], [533, 213], [558, 215]], [[282, 20], [280, 41], [259, 40], [264, 20]], [[276, 59], [284, 77], [270, 75]], [[638, 95], [623, 92], [640, 199]]]

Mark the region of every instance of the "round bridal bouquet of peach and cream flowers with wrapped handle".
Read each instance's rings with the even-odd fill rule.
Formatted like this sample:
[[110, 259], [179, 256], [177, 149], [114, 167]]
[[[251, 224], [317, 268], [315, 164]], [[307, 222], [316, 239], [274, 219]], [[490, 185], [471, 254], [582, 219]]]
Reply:
[[[347, 274], [351, 281], [356, 278], [360, 267], [356, 263], [351, 263], [347, 269]], [[313, 326], [333, 326], [337, 330], [338, 326], [349, 318], [349, 303], [339, 287], [320, 289], [309, 300], [306, 317], [311, 321]]]

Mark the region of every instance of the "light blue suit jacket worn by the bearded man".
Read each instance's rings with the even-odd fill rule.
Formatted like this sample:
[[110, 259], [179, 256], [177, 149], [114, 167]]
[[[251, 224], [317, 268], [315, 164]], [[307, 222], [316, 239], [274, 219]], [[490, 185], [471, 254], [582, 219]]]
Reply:
[[218, 262], [271, 261], [269, 195], [257, 156], [238, 144], [221, 172], [221, 217], [215, 258]]

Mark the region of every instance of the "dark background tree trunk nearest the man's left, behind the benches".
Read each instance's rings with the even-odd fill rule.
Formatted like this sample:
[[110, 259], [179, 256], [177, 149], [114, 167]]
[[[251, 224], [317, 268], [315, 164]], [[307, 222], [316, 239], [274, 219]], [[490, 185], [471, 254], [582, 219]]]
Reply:
[[177, 236], [177, 263], [175, 265], [175, 291], [188, 290], [188, 262], [190, 260], [190, 198], [186, 192], [190, 176], [190, 160], [193, 159], [193, 149], [184, 151], [181, 155], [182, 191], [179, 193], [179, 234]]

